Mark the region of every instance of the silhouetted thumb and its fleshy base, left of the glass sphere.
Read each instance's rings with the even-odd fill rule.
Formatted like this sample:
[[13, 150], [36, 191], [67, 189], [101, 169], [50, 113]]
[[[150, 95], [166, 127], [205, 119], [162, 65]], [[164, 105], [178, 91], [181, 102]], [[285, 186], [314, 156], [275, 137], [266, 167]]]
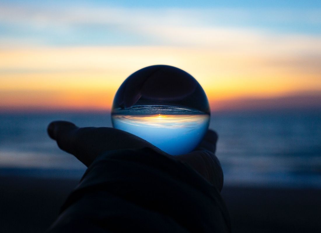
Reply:
[[110, 150], [150, 147], [160, 151], [142, 138], [115, 128], [78, 128], [67, 121], [53, 121], [48, 134], [60, 149], [73, 154], [87, 167], [97, 156]]

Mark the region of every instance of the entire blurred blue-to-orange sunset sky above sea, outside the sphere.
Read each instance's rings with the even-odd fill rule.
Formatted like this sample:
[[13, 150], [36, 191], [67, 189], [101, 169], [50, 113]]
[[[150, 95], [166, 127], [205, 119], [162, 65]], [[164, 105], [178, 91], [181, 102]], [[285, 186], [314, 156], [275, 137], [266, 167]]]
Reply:
[[154, 64], [213, 110], [320, 106], [321, 3], [0, 1], [0, 109], [108, 109]]

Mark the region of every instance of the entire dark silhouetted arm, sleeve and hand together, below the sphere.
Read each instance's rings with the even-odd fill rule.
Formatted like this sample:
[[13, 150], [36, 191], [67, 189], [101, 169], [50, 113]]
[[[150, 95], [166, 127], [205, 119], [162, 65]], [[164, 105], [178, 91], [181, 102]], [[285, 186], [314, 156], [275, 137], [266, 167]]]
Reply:
[[48, 133], [88, 166], [49, 232], [230, 232], [215, 132], [179, 156], [113, 128], [60, 121]]

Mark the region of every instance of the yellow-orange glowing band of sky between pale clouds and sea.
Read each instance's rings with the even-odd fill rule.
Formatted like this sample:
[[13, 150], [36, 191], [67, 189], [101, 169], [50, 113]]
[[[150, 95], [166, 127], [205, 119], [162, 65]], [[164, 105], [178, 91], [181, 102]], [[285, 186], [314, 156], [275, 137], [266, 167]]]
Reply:
[[318, 66], [267, 50], [242, 54], [162, 46], [24, 48], [3, 49], [0, 61], [0, 109], [109, 110], [126, 77], [154, 64], [173, 65], [193, 75], [214, 110], [242, 98], [321, 91]]

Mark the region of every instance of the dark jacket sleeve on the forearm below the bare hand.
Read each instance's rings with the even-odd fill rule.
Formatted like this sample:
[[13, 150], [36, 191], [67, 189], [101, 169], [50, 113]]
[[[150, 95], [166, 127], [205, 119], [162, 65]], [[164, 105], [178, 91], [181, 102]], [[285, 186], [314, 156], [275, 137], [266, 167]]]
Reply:
[[216, 187], [144, 148], [100, 155], [48, 232], [230, 232], [230, 220]]

